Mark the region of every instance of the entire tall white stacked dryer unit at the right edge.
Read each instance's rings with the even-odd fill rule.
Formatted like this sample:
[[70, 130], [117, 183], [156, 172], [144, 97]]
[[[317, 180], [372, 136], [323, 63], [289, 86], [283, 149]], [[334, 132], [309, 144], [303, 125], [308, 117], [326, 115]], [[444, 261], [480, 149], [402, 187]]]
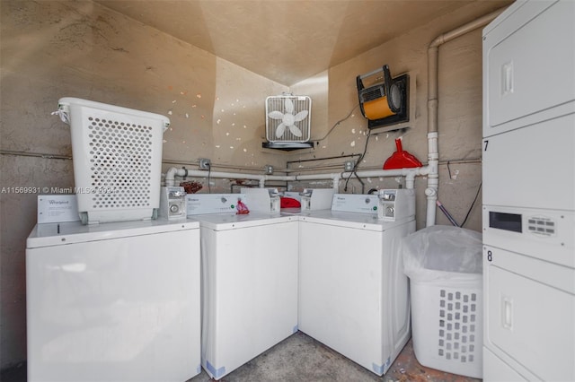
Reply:
[[483, 379], [575, 380], [575, 2], [483, 30]]

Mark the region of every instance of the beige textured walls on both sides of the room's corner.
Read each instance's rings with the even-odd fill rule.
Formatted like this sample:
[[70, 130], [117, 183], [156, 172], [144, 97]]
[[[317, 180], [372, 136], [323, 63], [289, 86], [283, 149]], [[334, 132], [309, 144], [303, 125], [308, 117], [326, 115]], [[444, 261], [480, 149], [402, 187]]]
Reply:
[[[394, 138], [427, 161], [427, 47], [439, 33], [469, 22], [470, 4], [458, 13], [370, 50], [344, 64], [297, 83], [296, 94], [313, 97], [312, 137], [326, 135], [357, 104], [355, 78], [388, 64], [392, 73], [410, 72], [416, 82], [415, 120], [405, 134], [373, 135], [359, 169], [381, 168], [394, 152]], [[1, 12], [1, 148], [3, 151], [71, 155], [69, 127], [49, 116], [60, 97], [99, 100], [166, 115], [172, 125], [164, 134], [164, 170], [199, 158], [216, 165], [283, 169], [335, 164], [326, 157], [359, 154], [367, 141], [367, 123], [358, 109], [314, 150], [276, 152], [261, 149], [264, 103], [268, 95], [288, 89], [237, 65], [134, 22], [92, 2], [3, 1]], [[440, 160], [481, 157], [481, 31], [440, 48]], [[71, 187], [69, 160], [2, 155], [0, 187]], [[217, 168], [216, 168], [217, 169]], [[481, 182], [481, 164], [452, 163], [440, 169], [439, 199], [458, 221], [471, 205]], [[207, 186], [206, 178], [199, 179]], [[228, 192], [235, 179], [212, 179], [212, 191]], [[418, 178], [418, 227], [425, 224], [425, 178]], [[369, 188], [397, 187], [401, 179], [364, 179]], [[330, 182], [294, 183], [331, 187]], [[205, 190], [204, 190], [205, 191]], [[344, 182], [340, 183], [344, 191]], [[203, 191], [202, 191], [203, 192]], [[361, 192], [350, 180], [347, 192]], [[25, 238], [36, 221], [36, 195], [0, 195], [2, 312], [0, 368], [24, 360]], [[467, 227], [481, 226], [478, 200]], [[438, 212], [438, 223], [447, 219]]]

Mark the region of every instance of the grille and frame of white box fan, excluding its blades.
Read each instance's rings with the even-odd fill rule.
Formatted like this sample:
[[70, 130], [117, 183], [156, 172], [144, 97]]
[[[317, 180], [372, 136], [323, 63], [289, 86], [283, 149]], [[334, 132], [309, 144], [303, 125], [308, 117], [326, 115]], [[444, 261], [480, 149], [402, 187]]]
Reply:
[[[287, 127], [279, 137], [276, 135], [281, 119], [271, 118], [270, 112], [279, 111], [282, 114], [288, 113], [286, 109], [286, 99], [290, 100], [294, 106], [289, 114], [296, 115], [300, 111], [307, 111], [307, 116], [294, 125], [301, 131], [302, 136], [294, 135]], [[312, 100], [308, 96], [270, 96], [266, 99], [266, 139], [272, 143], [278, 142], [309, 142], [310, 123], [312, 119]]]

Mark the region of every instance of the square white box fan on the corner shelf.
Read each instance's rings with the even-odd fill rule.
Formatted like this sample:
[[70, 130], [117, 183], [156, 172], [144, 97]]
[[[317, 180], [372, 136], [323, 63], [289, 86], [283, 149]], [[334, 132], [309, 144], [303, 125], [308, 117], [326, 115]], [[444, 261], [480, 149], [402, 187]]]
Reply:
[[312, 99], [284, 94], [266, 99], [266, 139], [270, 143], [305, 143], [310, 140]]

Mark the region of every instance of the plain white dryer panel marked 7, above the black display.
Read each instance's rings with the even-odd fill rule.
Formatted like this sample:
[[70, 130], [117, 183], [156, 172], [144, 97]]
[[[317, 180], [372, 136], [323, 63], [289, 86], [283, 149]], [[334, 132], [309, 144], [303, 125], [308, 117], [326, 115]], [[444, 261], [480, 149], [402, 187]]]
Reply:
[[575, 110], [483, 145], [483, 204], [575, 210]]

